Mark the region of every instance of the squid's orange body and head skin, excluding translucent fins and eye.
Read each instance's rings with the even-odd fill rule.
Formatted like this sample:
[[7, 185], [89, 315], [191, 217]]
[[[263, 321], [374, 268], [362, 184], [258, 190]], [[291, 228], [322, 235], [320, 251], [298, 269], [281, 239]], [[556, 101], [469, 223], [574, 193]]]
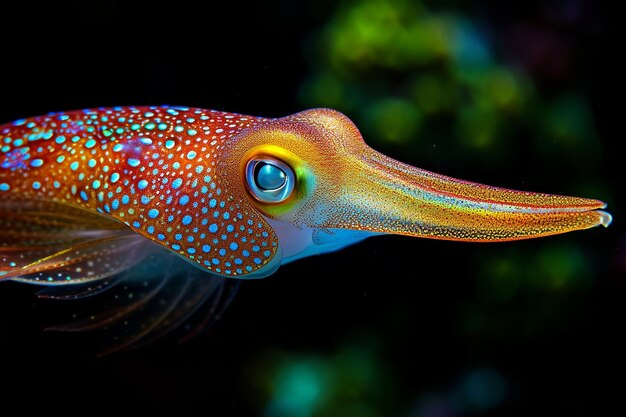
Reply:
[[[278, 161], [268, 172], [282, 166], [292, 176], [293, 192], [279, 201], [255, 195], [247, 176], [250, 161], [268, 158]], [[372, 234], [508, 241], [611, 222], [598, 200], [476, 184], [393, 160], [329, 109], [266, 119], [115, 107], [18, 120], [0, 126], [0, 199], [84, 209], [206, 272], [243, 278]], [[0, 276], [18, 274], [2, 262]]]

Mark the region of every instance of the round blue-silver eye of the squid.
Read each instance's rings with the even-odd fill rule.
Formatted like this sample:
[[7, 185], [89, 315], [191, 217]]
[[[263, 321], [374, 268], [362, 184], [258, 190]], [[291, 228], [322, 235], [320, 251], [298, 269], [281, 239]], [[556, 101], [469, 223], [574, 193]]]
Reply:
[[252, 195], [264, 203], [280, 203], [293, 192], [295, 176], [289, 166], [272, 158], [252, 159], [246, 165]]

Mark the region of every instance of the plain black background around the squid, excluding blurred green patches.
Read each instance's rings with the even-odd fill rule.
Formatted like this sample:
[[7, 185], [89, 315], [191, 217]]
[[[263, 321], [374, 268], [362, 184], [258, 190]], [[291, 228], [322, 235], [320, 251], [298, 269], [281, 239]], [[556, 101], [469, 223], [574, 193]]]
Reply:
[[[549, 25], [542, 12], [546, 4], [559, 2], [428, 3], [483, 22], [502, 52], [500, 34], [507, 27], [520, 20]], [[591, 272], [583, 290], [565, 295], [528, 290], [501, 303], [481, 298], [480, 271], [489, 262], [514, 253], [520, 265], [532, 269], [527, 254], [547, 248], [537, 246], [540, 241], [473, 246], [380, 237], [245, 282], [209, 337], [184, 345], [158, 342], [100, 359], [76, 335], [41, 331], [54, 303], [37, 301], [30, 286], [3, 283], [3, 409], [288, 415], [268, 408], [279, 395], [267, 382], [275, 378], [271, 364], [298, 358], [331, 361], [337, 352], [361, 349], [368, 352], [363, 360], [375, 366], [367, 388], [347, 394], [360, 408], [327, 405], [334, 411], [293, 415], [599, 415], [600, 409], [623, 410], [624, 72], [618, 59], [624, 48], [621, 31], [613, 26], [615, 10], [599, 2], [574, 3], [584, 8], [586, 23], [560, 32], [575, 50], [572, 70], [541, 78], [538, 88], [549, 92], [566, 83], [585, 97], [602, 149], [593, 164], [582, 155], [555, 166], [545, 155], [526, 151], [523, 158], [490, 171], [478, 159], [480, 153], [459, 164], [458, 156], [436, 154], [429, 160], [399, 145], [377, 147], [422, 168], [512, 188], [568, 193], [575, 190], [567, 188], [572, 177], [599, 178], [603, 188], [589, 196], [608, 200], [613, 225], [549, 238], [587, 254], [582, 267]], [[0, 123], [114, 105], [186, 105], [268, 117], [294, 113], [304, 108], [298, 91], [314, 66], [307, 51], [311, 36], [334, 9], [332, 1], [3, 5]], [[578, 30], [581, 26], [591, 29]], [[442, 142], [441, 147], [452, 145]], [[521, 285], [529, 276], [532, 271]], [[469, 316], [482, 331], [472, 330]], [[497, 370], [496, 379], [506, 387], [503, 399], [485, 406], [454, 398], [459, 381], [481, 369]], [[335, 375], [342, 376], [351, 384], [347, 371]], [[479, 389], [498, 386], [487, 382]], [[437, 409], [440, 414], [425, 411], [423, 404], [432, 398], [437, 399], [431, 401], [433, 410], [444, 404]], [[466, 406], [450, 406], [459, 403]]]

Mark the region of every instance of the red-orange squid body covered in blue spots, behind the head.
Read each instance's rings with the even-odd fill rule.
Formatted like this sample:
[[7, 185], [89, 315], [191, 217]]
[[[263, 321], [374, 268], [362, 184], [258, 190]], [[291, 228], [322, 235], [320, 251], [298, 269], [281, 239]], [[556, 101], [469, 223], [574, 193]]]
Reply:
[[96, 210], [210, 272], [246, 275], [278, 242], [216, 165], [226, 140], [263, 120], [167, 106], [18, 120], [0, 126], [0, 199]]

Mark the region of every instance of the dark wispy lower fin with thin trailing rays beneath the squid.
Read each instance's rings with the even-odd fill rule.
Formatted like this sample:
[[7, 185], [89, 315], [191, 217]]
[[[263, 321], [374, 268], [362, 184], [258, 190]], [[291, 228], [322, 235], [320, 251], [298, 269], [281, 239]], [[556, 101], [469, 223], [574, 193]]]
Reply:
[[[234, 281], [207, 274], [180, 258], [157, 251], [115, 278], [109, 291], [77, 300], [72, 320], [50, 327], [56, 331], [97, 331], [101, 354], [152, 343], [178, 329], [195, 313], [208, 313], [214, 322], [223, 308], [226, 284]], [[203, 308], [200, 308], [203, 307]], [[224, 306], [225, 307], [225, 306]], [[200, 310], [200, 311], [199, 311]], [[195, 321], [198, 321], [197, 319]]]

